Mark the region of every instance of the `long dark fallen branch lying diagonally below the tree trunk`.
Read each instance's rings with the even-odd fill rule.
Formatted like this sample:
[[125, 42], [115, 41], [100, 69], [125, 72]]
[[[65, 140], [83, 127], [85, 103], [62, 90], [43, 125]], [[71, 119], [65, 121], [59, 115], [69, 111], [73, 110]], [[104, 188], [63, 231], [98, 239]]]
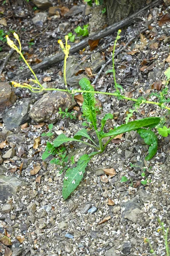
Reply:
[[[150, 9], [153, 6], [156, 6], [159, 2], [161, 2], [161, 0], [155, 0], [152, 3], [150, 3], [149, 6], [145, 6], [144, 8], [142, 8], [138, 12], [135, 12], [134, 14], [130, 15], [129, 17], [125, 18], [124, 20], [121, 20], [121, 21], [113, 24], [112, 26], [108, 26], [105, 29], [101, 30], [100, 32], [89, 36], [88, 38], [82, 40], [81, 42], [79, 42], [75, 46], [71, 47], [70, 50], [69, 50], [69, 53], [73, 54], [75, 52], [78, 52], [78, 50], [85, 48], [88, 45], [89, 39], [97, 40], [97, 39], [104, 38], [107, 35], [110, 35], [113, 32], [118, 31], [118, 29], [121, 29], [124, 26], [130, 25], [131, 23], [133, 23], [133, 18], [136, 15], [138, 15], [140, 12], [143, 12], [143, 11], [146, 11], [146, 10]], [[34, 72], [37, 72], [38, 70], [43, 70], [47, 67], [52, 66], [53, 64], [58, 63], [59, 61], [62, 61], [63, 59], [64, 59], [64, 54], [63, 54], [63, 52], [61, 52], [61, 53], [56, 54], [56, 55], [54, 55], [50, 58], [46, 58], [46, 60], [44, 60], [41, 63], [32, 67], [32, 70], [34, 70]], [[15, 77], [15, 79], [25, 77], [25, 76], [28, 76], [30, 74], [31, 74], [30, 70], [26, 70], [24, 72], [19, 72], [19, 73], [17, 73], [17, 76]]]

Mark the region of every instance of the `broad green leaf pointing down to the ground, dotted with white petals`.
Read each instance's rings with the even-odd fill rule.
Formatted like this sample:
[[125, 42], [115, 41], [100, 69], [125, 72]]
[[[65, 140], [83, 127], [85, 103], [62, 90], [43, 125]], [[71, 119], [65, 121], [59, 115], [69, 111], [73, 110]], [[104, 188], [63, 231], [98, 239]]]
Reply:
[[78, 160], [77, 166], [73, 169], [69, 169], [66, 172], [66, 175], [63, 180], [63, 190], [62, 195], [64, 200], [69, 197], [71, 192], [73, 192], [79, 183], [81, 182], [85, 168], [89, 162], [91, 157], [89, 157], [87, 154], [84, 154], [80, 159]]

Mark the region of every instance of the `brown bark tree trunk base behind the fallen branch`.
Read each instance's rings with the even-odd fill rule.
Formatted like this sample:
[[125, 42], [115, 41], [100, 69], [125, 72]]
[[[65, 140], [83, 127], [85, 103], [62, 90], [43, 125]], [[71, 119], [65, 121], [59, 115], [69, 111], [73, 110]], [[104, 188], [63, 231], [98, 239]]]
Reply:
[[107, 23], [110, 26], [126, 18], [144, 7], [146, 3], [148, 3], [148, 0], [105, 0]]

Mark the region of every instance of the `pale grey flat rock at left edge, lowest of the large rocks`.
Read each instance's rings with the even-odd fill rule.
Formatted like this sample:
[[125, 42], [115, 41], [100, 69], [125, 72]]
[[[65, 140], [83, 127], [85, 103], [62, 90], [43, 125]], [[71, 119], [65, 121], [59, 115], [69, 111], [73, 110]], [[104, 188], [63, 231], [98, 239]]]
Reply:
[[0, 174], [0, 201], [16, 195], [17, 191], [26, 183], [26, 180], [14, 176]]

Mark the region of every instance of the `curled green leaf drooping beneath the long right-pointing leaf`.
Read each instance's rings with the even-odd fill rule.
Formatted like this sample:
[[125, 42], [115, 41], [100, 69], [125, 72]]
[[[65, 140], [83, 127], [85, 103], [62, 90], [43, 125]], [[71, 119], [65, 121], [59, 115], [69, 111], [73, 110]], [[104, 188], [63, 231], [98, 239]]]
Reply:
[[158, 149], [158, 139], [153, 131], [147, 129], [138, 129], [137, 133], [144, 139], [144, 142], [147, 145], [150, 145], [148, 149], [148, 156], [145, 157], [145, 160], [150, 160], [157, 152]]

